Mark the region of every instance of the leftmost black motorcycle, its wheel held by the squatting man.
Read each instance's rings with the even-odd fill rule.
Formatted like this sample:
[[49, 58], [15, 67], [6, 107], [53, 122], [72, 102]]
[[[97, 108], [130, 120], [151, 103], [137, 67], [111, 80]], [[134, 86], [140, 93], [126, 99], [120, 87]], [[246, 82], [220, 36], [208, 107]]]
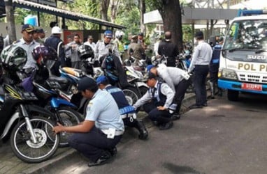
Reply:
[[22, 161], [38, 163], [55, 154], [59, 134], [52, 132], [53, 113], [36, 106], [34, 93], [21, 92], [8, 84], [0, 87], [0, 139], [10, 139], [11, 149]]

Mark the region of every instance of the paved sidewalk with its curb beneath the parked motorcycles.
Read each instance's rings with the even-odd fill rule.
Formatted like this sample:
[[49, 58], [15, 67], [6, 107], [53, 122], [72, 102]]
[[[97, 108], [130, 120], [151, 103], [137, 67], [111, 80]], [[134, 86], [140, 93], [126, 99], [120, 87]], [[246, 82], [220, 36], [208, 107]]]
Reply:
[[[194, 94], [188, 93], [185, 95], [185, 100], [182, 104], [182, 112], [187, 111], [188, 106], [194, 102]], [[146, 127], [150, 131], [150, 127], [152, 126], [152, 122], [147, 119], [147, 114], [140, 112], [138, 113], [138, 118], [145, 122]], [[127, 129], [126, 133], [124, 133], [124, 138], [121, 141], [120, 145], [127, 143], [128, 141], [139, 141], [138, 140], [138, 132], [134, 129]], [[118, 145], [118, 148], [119, 146]], [[51, 159], [47, 161], [43, 161], [38, 164], [27, 164], [24, 161], [21, 161], [13, 154], [9, 143], [2, 143], [0, 141], [0, 174], [2, 173], [57, 173], [57, 168], [61, 168], [62, 166], [71, 166], [75, 164], [75, 162], [80, 161], [80, 156], [78, 152], [71, 148], [58, 148], [55, 155], [52, 156]]]

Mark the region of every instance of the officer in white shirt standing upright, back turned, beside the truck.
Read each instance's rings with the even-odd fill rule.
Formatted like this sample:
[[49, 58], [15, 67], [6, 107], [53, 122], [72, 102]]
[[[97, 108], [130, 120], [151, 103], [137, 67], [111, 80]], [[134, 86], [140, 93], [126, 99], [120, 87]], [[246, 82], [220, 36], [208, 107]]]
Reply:
[[212, 58], [212, 48], [204, 41], [202, 31], [197, 31], [195, 34], [198, 45], [195, 47], [192, 61], [188, 68], [188, 72], [194, 70], [194, 87], [196, 93], [196, 103], [190, 106], [190, 109], [202, 108], [207, 106], [207, 91], [205, 89], [205, 81], [208, 75], [208, 65]]

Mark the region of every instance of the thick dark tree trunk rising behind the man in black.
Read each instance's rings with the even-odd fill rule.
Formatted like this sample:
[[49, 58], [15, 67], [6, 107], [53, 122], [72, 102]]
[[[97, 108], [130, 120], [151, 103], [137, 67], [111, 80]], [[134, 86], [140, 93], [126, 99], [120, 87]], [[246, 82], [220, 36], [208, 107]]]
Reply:
[[182, 46], [182, 15], [179, 0], [162, 0], [162, 9], [159, 9], [164, 24], [164, 31], [171, 31], [172, 41], [178, 45], [180, 52]]

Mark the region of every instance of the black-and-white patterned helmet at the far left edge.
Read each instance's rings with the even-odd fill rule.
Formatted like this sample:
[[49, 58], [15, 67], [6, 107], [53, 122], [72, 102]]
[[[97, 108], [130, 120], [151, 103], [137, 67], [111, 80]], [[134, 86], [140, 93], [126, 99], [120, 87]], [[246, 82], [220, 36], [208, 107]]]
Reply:
[[0, 55], [3, 69], [13, 72], [22, 70], [27, 62], [27, 52], [17, 45], [5, 47]]

